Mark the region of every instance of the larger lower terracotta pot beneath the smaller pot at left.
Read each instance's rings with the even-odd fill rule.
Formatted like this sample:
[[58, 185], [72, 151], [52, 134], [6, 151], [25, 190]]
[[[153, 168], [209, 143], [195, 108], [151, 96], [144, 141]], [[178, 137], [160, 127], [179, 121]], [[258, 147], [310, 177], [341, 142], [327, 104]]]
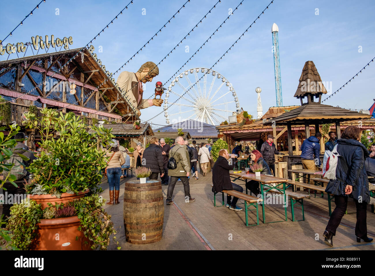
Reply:
[[[38, 223], [36, 250], [91, 250], [92, 242], [78, 230], [80, 219], [62, 217], [59, 219], [41, 219]], [[76, 240], [78, 237], [78, 240]], [[85, 242], [87, 241], [87, 243]]]

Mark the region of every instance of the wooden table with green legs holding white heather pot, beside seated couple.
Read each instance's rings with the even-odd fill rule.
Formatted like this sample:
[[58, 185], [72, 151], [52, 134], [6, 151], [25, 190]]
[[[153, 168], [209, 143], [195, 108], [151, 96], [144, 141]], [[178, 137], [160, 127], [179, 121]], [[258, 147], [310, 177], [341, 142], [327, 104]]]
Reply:
[[[284, 202], [287, 202], [287, 195], [285, 194], [285, 182], [288, 181], [289, 179], [285, 178], [279, 178], [275, 177], [272, 175], [260, 175], [260, 176], [255, 176], [255, 173], [245, 173], [242, 175], [243, 179], [250, 179], [250, 180], [255, 180], [260, 182], [260, 187], [261, 187], [261, 194], [263, 196], [262, 199], [265, 198], [266, 192], [272, 192], [272, 190], [277, 190], [279, 193], [282, 193], [284, 195]], [[281, 187], [282, 186], [282, 187]], [[246, 189], [247, 192], [247, 189]], [[264, 202], [264, 201], [263, 201]], [[287, 206], [285, 205], [285, 221], [288, 220], [287, 217]], [[263, 223], [266, 223], [266, 215], [264, 212], [264, 203], [262, 204], [262, 212], [263, 212]], [[280, 222], [275, 221], [275, 222]], [[273, 222], [267, 222], [267, 223], [273, 223]]]

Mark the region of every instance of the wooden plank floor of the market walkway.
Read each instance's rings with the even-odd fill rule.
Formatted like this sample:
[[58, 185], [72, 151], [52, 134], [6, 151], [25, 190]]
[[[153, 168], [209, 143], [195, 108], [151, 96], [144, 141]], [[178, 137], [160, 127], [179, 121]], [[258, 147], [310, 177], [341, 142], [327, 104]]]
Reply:
[[[211, 192], [212, 175], [199, 175], [199, 179], [190, 178], [190, 194], [196, 200], [184, 201], [183, 184], [177, 182], [174, 189], [175, 204], [165, 205], [163, 238], [153, 244], [134, 245], [125, 240], [123, 228], [123, 189], [126, 181], [121, 179], [120, 204], [106, 205], [106, 211], [112, 215], [117, 240], [121, 250], [375, 250], [375, 243], [356, 242], [354, 227], [356, 225], [356, 207], [352, 200], [348, 201], [348, 213], [343, 217], [341, 225], [333, 237], [334, 247], [324, 244], [323, 232], [329, 220], [327, 195], [324, 198], [314, 196], [305, 199], [305, 221], [292, 222], [290, 206], [287, 207], [288, 221], [262, 223], [262, 209], [259, 206], [260, 225], [245, 225], [245, 210], [233, 211], [226, 207], [213, 206]], [[236, 181], [244, 184], [243, 181]], [[108, 199], [108, 184], [102, 182], [105, 190], [102, 196]], [[245, 189], [245, 185], [243, 185]], [[162, 186], [164, 198], [168, 186]], [[226, 196], [224, 197], [226, 204]], [[221, 196], [217, 201], [221, 204]], [[239, 201], [238, 203], [243, 203]], [[288, 202], [289, 204], [290, 202]], [[243, 206], [243, 205], [240, 205]], [[332, 210], [335, 204], [332, 203]], [[181, 210], [181, 211], [180, 211]], [[302, 219], [302, 210], [296, 207], [296, 219]], [[255, 222], [255, 211], [249, 215], [249, 224]], [[282, 205], [266, 205], [266, 222], [285, 220]], [[367, 227], [369, 237], [375, 237], [375, 214], [368, 206]], [[111, 244], [109, 249], [115, 249]]]

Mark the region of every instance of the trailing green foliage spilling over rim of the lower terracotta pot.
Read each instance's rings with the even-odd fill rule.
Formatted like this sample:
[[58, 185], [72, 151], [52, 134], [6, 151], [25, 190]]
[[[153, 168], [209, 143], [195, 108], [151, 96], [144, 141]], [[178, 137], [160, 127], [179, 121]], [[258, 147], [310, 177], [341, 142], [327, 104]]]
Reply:
[[[111, 216], [102, 208], [104, 202], [98, 195], [75, 199], [66, 204], [49, 204], [49, 207], [44, 210], [35, 201], [25, 203], [27, 204], [15, 204], [10, 208], [12, 216], [9, 218], [6, 229], [11, 232], [14, 248], [30, 250], [36, 247], [39, 238], [37, 237], [37, 223], [42, 218], [77, 216], [81, 220], [78, 230], [92, 241], [91, 248], [94, 250], [107, 249], [111, 235], [116, 234]], [[115, 240], [116, 237], [114, 236], [113, 239]], [[118, 244], [118, 241], [115, 243]]]

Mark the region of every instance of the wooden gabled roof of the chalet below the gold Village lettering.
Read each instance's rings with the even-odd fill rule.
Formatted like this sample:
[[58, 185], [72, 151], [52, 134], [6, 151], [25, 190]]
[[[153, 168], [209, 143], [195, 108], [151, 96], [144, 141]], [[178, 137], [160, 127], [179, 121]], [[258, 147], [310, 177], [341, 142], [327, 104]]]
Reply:
[[[51, 52], [51, 53], [46, 53], [46, 54], [21, 57], [18, 59], [5, 60], [5, 61], [0, 62], [0, 67], [1, 66], [16, 66], [18, 63], [24, 63], [24, 62], [26, 64], [31, 64], [32, 61], [34, 60], [43, 60], [43, 59], [48, 58], [51, 60], [51, 62], [54, 62], [56, 60], [56, 64], [58, 68], [60, 68], [69, 59], [71, 59], [72, 56], [79, 53], [81, 50], [82, 48], [77, 48], [77, 49], [72, 49], [72, 50]], [[85, 84], [87, 83], [93, 87], [97, 87], [99, 86], [99, 84], [101, 84], [99, 86], [100, 94], [105, 95], [110, 101], [124, 101], [124, 103], [115, 104], [115, 107], [118, 110], [120, 110], [122, 114], [132, 113], [132, 108], [129, 107], [129, 104], [125, 101], [125, 99], [121, 95], [120, 90], [118, 90], [115, 87], [115, 83], [113, 83], [110, 80], [110, 78], [107, 78], [105, 71], [101, 68], [101, 65], [99, 65], [98, 62], [93, 58], [92, 54], [87, 50], [87, 48], [84, 48], [84, 50], [82, 50], [81, 53], [84, 54], [84, 59], [83, 59], [84, 62], [81, 62], [81, 54], [78, 54], [75, 57], [75, 59], [73, 59], [68, 65], [66, 65], [67, 66], [66, 68], [62, 68], [60, 69], [59, 72], [56, 72], [54, 77], [61, 78], [61, 79], [69, 78], [69, 79], [77, 80], [78, 82], [82, 82]], [[45, 68], [43, 68], [42, 66], [43, 64], [38, 65], [37, 63], [35, 63], [33, 65], [33, 68], [37, 69], [38, 71], [45, 70]], [[75, 68], [76, 66], [77, 68]], [[54, 71], [53, 68], [51, 68], [50, 70]], [[70, 75], [66, 74], [67, 72], [71, 72], [71, 71], [73, 72]], [[83, 81], [80, 79], [81, 77], [80, 77], [80, 74], [78, 73], [84, 73]], [[57, 76], [57, 75], [60, 75], [60, 76]], [[90, 79], [87, 81], [88, 78]], [[105, 79], [107, 80], [104, 83]], [[104, 109], [103, 111], [113, 112], [113, 110], [111, 109], [112, 108], [109, 105], [107, 109]]]

